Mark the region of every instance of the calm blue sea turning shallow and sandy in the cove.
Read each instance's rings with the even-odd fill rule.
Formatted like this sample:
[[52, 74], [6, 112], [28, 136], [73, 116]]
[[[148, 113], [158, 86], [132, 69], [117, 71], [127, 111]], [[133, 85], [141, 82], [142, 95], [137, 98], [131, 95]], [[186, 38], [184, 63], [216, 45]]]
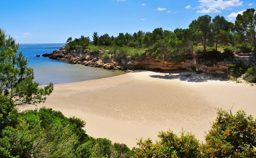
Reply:
[[[65, 46], [65, 43], [19, 44], [18, 51], [22, 51], [28, 59], [28, 66], [34, 70], [34, 81], [39, 85], [48, 85], [50, 82], [59, 84], [87, 81], [123, 74], [121, 71], [87, 67], [81, 64], [68, 64], [42, 56], [44, 53], [59, 50], [62, 46]], [[36, 57], [36, 55], [40, 55], [40, 57]]]

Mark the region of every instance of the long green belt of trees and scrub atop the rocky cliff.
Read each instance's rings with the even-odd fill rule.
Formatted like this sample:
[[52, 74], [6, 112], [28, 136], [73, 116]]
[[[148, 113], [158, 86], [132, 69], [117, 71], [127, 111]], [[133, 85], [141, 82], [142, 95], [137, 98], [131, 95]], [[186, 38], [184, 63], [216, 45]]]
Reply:
[[[255, 9], [247, 9], [236, 17], [235, 23], [217, 15], [212, 19], [209, 15], [198, 17], [189, 24], [189, 28], [176, 28], [173, 31], [155, 28], [152, 32], [138, 31], [133, 34], [119, 33], [117, 37], [93, 33], [90, 38], [81, 38], [66, 43], [68, 50], [103, 51], [113, 54], [119, 60], [129, 55], [139, 59], [144, 53], [153, 58], [170, 60], [177, 56], [191, 55], [200, 64], [194, 53], [207, 51], [228, 51], [235, 53], [256, 52], [256, 14]], [[138, 53], [139, 52], [139, 53]], [[108, 57], [108, 55], [105, 55]]]

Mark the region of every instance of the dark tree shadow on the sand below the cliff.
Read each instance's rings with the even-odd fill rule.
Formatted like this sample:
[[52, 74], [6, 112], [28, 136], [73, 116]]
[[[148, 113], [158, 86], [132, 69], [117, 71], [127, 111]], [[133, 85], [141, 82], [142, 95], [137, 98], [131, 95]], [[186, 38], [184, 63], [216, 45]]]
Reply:
[[214, 77], [206, 73], [197, 74], [191, 71], [172, 71], [171, 73], [162, 73], [161, 75], [150, 75], [153, 78], [159, 79], [179, 79], [187, 82], [208, 82], [208, 81], [226, 81], [221, 77]]

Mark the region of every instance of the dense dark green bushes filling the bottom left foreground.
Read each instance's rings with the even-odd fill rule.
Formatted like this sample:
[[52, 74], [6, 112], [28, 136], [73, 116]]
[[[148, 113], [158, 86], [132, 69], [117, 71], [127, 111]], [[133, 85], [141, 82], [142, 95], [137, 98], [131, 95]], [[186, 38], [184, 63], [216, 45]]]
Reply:
[[0, 123], [1, 158], [128, 158], [133, 154], [125, 144], [87, 135], [81, 119], [44, 107], [18, 113], [4, 96], [0, 96]]

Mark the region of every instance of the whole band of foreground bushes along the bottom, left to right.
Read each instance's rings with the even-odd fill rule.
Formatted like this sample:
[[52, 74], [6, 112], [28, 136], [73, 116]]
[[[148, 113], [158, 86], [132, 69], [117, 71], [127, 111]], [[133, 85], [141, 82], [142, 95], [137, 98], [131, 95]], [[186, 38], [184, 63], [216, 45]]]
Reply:
[[199, 143], [191, 133], [160, 132], [160, 141], [125, 144], [86, 134], [85, 122], [42, 107], [18, 113], [10, 98], [0, 96], [1, 158], [252, 158], [256, 155], [256, 120], [218, 109], [216, 121]]

